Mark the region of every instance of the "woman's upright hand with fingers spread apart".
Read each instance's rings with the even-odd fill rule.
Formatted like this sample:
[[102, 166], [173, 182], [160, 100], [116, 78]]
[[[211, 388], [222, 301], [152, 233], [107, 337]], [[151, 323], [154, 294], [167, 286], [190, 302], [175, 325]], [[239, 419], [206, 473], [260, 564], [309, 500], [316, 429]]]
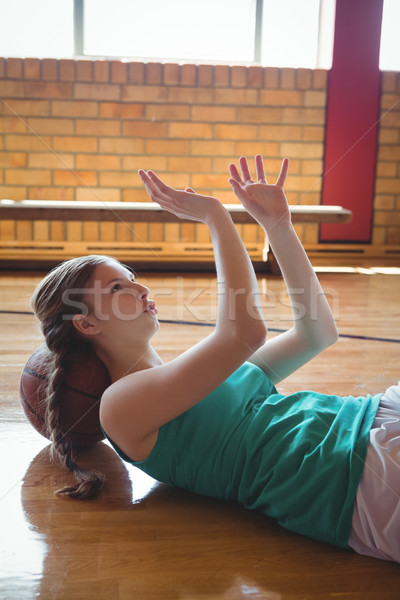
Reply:
[[239, 165], [241, 175], [236, 165], [229, 165], [231, 177], [229, 183], [245, 209], [268, 231], [277, 225], [290, 223], [290, 210], [286, 200], [284, 185], [289, 169], [289, 160], [282, 161], [281, 172], [275, 184], [268, 184], [264, 170], [264, 161], [259, 154], [256, 156], [256, 178], [251, 177], [247, 158], [241, 157]]

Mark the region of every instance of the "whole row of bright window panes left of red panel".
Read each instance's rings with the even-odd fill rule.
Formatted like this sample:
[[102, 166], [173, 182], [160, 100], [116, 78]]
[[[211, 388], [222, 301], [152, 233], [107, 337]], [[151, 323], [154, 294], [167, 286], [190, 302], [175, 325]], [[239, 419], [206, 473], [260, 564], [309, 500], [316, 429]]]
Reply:
[[0, 0], [0, 10], [3, 56], [332, 62], [335, 0]]

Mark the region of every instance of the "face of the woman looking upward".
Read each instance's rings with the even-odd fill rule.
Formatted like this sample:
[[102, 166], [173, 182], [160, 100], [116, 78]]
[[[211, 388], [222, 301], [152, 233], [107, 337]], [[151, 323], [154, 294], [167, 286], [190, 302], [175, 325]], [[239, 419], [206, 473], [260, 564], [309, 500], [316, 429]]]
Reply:
[[[96, 267], [85, 288], [88, 319], [105, 335], [149, 337], [159, 328], [157, 309], [149, 299], [149, 288], [135, 280], [134, 274], [115, 261]], [[139, 336], [139, 338], [138, 338]]]

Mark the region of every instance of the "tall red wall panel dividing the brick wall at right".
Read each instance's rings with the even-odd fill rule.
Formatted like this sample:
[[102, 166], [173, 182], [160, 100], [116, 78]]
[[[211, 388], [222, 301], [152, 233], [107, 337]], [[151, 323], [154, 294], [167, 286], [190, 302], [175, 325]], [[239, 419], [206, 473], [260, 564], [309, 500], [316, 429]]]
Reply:
[[322, 204], [353, 211], [322, 225], [321, 241], [369, 242], [379, 113], [383, 0], [337, 0], [329, 73]]

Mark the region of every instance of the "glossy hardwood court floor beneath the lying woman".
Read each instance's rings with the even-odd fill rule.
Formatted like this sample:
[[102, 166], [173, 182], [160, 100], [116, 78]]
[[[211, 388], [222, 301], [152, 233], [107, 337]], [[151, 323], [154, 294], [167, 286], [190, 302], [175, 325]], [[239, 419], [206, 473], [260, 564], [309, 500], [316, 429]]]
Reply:
[[[80, 457], [105, 471], [102, 496], [87, 502], [55, 497], [69, 474], [48, 461], [48, 442], [26, 422], [18, 399], [20, 372], [41, 337], [34, 318], [15, 311], [29, 311], [40, 275], [0, 272], [1, 600], [400, 598], [400, 566], [158, 484], [104, 443]], [[161, 320], [203, 324], [164, 323], [155, 343], [164, 359], [207, 335], [215, 319], [212, 274], [141, 279]], [[320, 280], [342, 337], [280, 390], [364, 394], [397, 382], [399, 271], [321, 273]], [[273, 336], [289, 327], [290, 310], [279, 277], [259, 276], [259, 282]]]

